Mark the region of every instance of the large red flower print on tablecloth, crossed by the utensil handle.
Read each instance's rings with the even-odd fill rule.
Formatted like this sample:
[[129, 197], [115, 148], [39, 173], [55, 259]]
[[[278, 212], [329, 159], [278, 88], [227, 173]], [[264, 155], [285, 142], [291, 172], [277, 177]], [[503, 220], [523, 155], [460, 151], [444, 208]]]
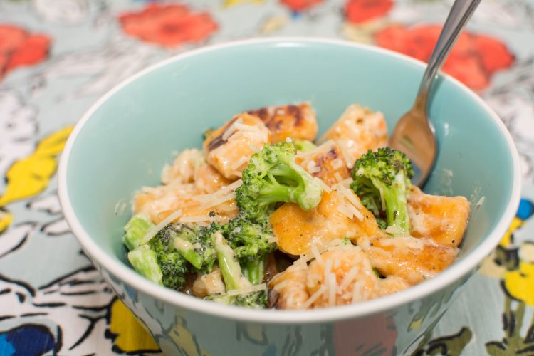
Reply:
[[[440, 31], [439, 25], [414, 28], [395, 25], [375, 33], [375, 41], [384, 48], [428, 61]], [[480, 91], [488, 87], [494, 73], [509, 68], [514, 60], [506, 45], [496, 38], [464, 32], [444, 63], [443, 71]]]

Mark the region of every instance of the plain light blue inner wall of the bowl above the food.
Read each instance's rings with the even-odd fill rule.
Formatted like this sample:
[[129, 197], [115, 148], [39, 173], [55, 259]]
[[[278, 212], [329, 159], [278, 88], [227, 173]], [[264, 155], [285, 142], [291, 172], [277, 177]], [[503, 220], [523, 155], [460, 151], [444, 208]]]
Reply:
[[[120, 214], [117, 206], [158, 184], [173, 152], [201, 147], [207, 128], [247, 109], [309, 101], [323, 132], [351, 103], [384, 112], [391, 130], [411, 106], [423, 70], [404, 56], [328, 41], [243, 43], [171, 59], [112, 90], [78, 127], [66, 162], [70, 204], [88, 236], [127, 264], [121, 236], [130, 210]], [[507, 209], [513, 155], [475, 95], [448, 78], [436, 87], [430, 116], [439, 157], [425, 190], [471, 199], [462, 259]]]

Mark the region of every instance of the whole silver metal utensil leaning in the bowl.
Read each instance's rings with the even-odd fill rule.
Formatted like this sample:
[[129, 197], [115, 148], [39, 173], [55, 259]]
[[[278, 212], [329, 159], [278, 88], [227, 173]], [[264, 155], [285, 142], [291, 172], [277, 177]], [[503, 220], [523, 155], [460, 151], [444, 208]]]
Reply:
[[427, 115], [428, 95], [439, 68], [449, 55], [462, 28], [481, 0], [456, 0], [445, 21], [439, 39], [424, 72], [412, 109], [404, 114], [393, 130], [388, 145], [404, 152], [414, 164], [414, 184], [422, 187], [436, 159], [434, 127]]

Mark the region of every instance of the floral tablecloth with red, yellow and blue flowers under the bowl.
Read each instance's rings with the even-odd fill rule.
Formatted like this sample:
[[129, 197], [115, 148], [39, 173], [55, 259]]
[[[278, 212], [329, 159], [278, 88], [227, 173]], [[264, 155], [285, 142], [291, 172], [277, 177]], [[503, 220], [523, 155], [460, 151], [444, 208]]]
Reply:
[[[81, 251], [56, 196], [70, 130], [112, 85], [175, 53], [250, 37], [345, 38], [426, 60], [450, 6], [1, 0], [0, 355], [159, 353]], [[534, 355], [534, 1], [483, 1], [444, 71], [512, 132], [523, 199], [501, 244], [416, 354]], [[428, 305], [421, 320], [432, 313]]]

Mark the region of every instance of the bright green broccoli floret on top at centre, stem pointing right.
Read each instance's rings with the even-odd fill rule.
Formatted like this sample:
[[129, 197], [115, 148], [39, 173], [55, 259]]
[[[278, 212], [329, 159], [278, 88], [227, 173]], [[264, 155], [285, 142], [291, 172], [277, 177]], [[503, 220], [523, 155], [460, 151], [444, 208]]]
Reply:
[[295, 163], [295, 145], [289, 142], [265, 145], [252, 155], [242, 179], [236, 202], [239, 211], [252, 220], [266, 216], [278, 202], [297, 203], [310, 210], [323, 197], [320, 185]]

